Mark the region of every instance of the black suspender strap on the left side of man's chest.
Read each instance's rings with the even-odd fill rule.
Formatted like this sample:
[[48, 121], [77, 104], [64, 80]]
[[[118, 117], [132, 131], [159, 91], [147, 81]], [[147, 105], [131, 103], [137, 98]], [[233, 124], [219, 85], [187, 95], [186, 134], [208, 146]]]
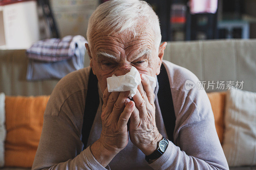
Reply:
[[89, 134], [92, 128], [95, 115], [97, 113], [100, 104], [99, 92], [98, 92], [98, 79], [90, 70], [87, 94], [84, 107], [84, 122], [82, 127], [82, 142], [84, 143], [84, 149], [86, 148]]

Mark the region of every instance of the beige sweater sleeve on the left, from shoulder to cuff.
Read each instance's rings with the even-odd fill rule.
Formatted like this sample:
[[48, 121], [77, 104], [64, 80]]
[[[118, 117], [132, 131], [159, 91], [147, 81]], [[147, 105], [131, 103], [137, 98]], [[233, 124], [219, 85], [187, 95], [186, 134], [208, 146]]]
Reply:
[[90, 146], [83, 151], [81, 141], [89, 70], [68, 74], [54, 88], [45, 108], [33, 170], [106, 169], [93, 157]]

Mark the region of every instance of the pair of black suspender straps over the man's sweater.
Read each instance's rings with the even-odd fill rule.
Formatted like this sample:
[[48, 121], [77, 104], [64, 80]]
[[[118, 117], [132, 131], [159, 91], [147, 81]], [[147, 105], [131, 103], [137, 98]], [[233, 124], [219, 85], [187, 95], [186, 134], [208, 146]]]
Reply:
[[[174, 107], [172, 101], [172, 93], [169, 83], [168, 74], [164, 65], [161, 65], [160, 74], [157, 76], [159, 90], [157, 93], [159, 107], [164, 119], [164, 126], [168, 139], [173, 142], [173, 131], [175, 127], [176, 117], [174, 114]], [[88, 88], [85, 100], [84, 108], [84, 122], [82, 127], [82, 142], [84, 143], [84, 149], [87, 146], [88, 137], [92, 128], [95, 115], [99, 107], [99, 93], [98, 93], [98, 79], [90, 71]]]

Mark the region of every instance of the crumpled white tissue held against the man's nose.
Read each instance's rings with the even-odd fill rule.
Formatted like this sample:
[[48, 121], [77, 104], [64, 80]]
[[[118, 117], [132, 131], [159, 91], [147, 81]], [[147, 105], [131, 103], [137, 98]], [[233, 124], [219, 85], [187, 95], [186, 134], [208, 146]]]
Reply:
[[[151, 88], [156, 87], [156, 78], [144, 74], [149, 79]], [[130, 72], [123, 76], [115, 76], [107, 78], [108, 92], [125, 92], [130, 91], [129, 98], [132, 98], [137, 91], [137, 87], [141, 82], [139, 71], [132, 66]]]

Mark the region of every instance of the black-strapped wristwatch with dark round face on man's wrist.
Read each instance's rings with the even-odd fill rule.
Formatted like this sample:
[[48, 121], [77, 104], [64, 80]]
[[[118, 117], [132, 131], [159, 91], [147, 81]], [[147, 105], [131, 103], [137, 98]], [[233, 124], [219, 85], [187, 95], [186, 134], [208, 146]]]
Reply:
[[156, 151], [154, 151], [150, 155], [145, 156], [145, 159], [148, 163], [150, 162], [150, 160], [157, 159], [164, 154], [164, 152], [168, 146], [168, 141], [163, 137], [163, 139], [158, 142], [157, 146], [158, 147], [157, 147]]

